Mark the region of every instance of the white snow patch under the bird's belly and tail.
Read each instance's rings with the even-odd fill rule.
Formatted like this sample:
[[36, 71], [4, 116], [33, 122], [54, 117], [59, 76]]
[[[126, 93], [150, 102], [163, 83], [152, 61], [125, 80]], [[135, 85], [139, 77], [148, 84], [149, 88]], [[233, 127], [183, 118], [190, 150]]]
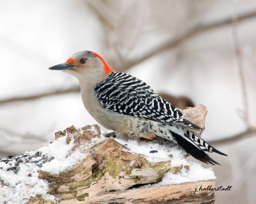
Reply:
[[[216, 179], [212, 168], [204, 168], [200, 163], [187, 161], [184, 158], [186, 155], [184, 149], [172, 142], [166, 141], [163, 138], [157, 138], [153, 141], [141, 141], [141, 139], [129, 140], [126, 136], [118, 134], [116, 138], [113, 139], [130, 149], [124, 149], [125, 151], [142, 154], [150, 162], [170, 160], [172, 168], [183, 165], [183, 168], [178, 173], [173, 174], [168, 172], [164, 175], [161, 182], [152, 185], [149, 184], [150, 186], [181, 184]], [[150, 153], [152, 150], [156, 150], [158, 152]], [[133, 161], [131, 161], [131, 163], [132, 162]], [[184, 166], [188, 166], [189, 170], [184, 168]], [[148, 185], [142, 187], [148, 187]]]

